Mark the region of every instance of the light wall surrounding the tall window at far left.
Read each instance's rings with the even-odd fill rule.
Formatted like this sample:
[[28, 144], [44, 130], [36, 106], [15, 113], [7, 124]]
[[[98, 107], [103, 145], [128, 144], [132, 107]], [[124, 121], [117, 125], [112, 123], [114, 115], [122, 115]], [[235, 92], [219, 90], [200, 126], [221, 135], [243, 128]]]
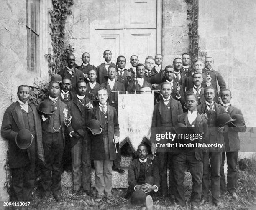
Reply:
[[[40, 1], [41, 29], [49, 29], [48, 7], [51, 0]], [[42, 31], [42, 30], [41, 30]], [[46, 29], [46, 33], [49, 31]], [[42, 33], [40, 33], [42, 35]], [[17, 98], [17, 89], [21, 84], [33, 86], [34, 80], [45, 81], [48, 68], [44, 54], [50, 53], [51, 43], [47, 35], [40, 42], [40, 73], [27, 71], [27, 31], [26, 0], [1, 1], [0, 7], [0, 126], [6, 108]], [[49, 51], [48, 51], [49, 50]], [[6, 163], [8, 141], [0, 135], [0, 201], [8, 201], [8, 194], [3, 185], [6, 182]]]

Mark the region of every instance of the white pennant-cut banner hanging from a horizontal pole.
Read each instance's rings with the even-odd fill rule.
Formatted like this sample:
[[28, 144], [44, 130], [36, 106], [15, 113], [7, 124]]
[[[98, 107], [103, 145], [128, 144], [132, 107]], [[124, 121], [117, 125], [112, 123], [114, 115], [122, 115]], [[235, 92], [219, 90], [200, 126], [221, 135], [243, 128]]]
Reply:
[[154, 95], [151, 92], [118, 94], [120, 145], [129, 137], [133, 149], [137, 151], [143, 137], [150, 139], [153, 109]]

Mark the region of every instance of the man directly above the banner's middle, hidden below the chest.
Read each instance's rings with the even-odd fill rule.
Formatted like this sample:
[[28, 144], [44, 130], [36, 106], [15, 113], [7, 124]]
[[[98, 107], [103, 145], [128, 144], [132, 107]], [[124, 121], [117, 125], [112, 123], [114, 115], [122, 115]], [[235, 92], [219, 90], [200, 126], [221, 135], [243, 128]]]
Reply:
[[144, 74], [145, 74], [145, 66], [142, 63], [139, 63], [136, 66], [136, 80], [131, 82], [128, 87], [127, 90], [128, 91], [139, 91], [141, 90], [141, 88], [145, 88], [145, 87], [150, 87], [150, 89], [152, 90], [152, 86], [150, 83], [148, 83], [145, 79], [144, 79]]

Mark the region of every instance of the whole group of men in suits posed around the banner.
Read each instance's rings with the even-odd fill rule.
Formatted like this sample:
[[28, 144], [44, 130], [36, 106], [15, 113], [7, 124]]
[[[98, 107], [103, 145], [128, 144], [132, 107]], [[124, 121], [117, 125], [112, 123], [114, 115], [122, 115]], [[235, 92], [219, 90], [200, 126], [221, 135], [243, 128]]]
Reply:
[[[138, 150], [141, 155], [139, 162], [132, 162], [129, 167], [128, 173], [133, 177], [128, 177], [130, 185], [128, 195], [131, 196], [133, 191], [137, 190], [145, 192], [160, 190], [163, 197], [170, 195], [175, 198], [178, 205], [184, 206], [182, 183], [184, 166], [188, 163], [193, 182], [191, 209], [199, 209], [199, 205], [208, 202], [210, 183], [212, 202], [220, 209], [224, 209], [224, 205], [220, 202], [220, 192], [221, 190], [224, 192], [226, 188], [223, 172], [226, 152], [227, 189], [230, 195], [237, 199], [236, 163], [240, 149], [238, 132], [245, 132], [246, 126], [238, 128], [233, 124], [229, 124], [228, 127], [217, 124], [221, 114], [228, 113], [232, 117], [234, 114], [242, 116], [242, 113], [231, 106], [231, 91], [226, 89], [220, 73], [212, 69], [213, 58], [205, 58], [204, 63], [195, 61], [192, 66], [189, 54], [184, 53], [181, 58], [174, 59], [173, 65], [163, 68], [160, 54], [154, 58], [146, 57], [144, 64], [138, 63], [138, 56], [132, 55], [129, 69], [125, 68], [124, 56], [118, 56], [116, 65], [112, 63], [110, 50], [104, 51], [103, 58], [105, 62], [95, 68], [89, 63], [90, 54], [83, 53], [83, 63], [77, 69], [75, 56], [67, 55], [67, 67], [59, 71], [60, 78], [52, 77], [49, 83], [49, 98], [38, 105], [38, 112], [35, 111], [33, 104], [28, 103], [29, 87], [23, 85], [18, 88], [19, 101], [11, 104], [6, 110], [4, 119], [8, 120], [3, 121], [1, 130], [3, 137], [10, 140], [10, 166], [13, 175], [13, 191], [16, 195], [13, 199], [31, 199], [33, 172], [31, 177], [24, 172], [34, 171], [35, 155], [38, 154], [43, 165], [41, 195], [44, 198], [50, 195], [52, 183], [53, 195], [56, 201], [61, 201], [61, 163], [65, 148], [70, 150], [66, 155], [71, 156], [73, 193], [78, 193], [82, 187], [87, 195], [92, 195], [90, 160], [93, 160], [97, 198], [102, 199], [105, 194], [111, 199], [112, 169], [119, 173], [124, 172], [120, 166], [118, 150], [117, 91], [132, 93], [144, 87], [158, 92], [155, 94], [151, 127], [151, 152], [157, 154], [155, 160], [157, 164], [145, 158], [148, 151], [141, 145]], [[220, 86], [219, 94], [218, 85]], [[100, 133], [87, 129], [88, 121], [91, 119], [100, 122], [102, 130]], [[32, 127], [30, 127], [30, 121], [33, 121]], [[197, 134], [203, 134], [204, 138], [199, 143], [225, 144], [225, 150], [203, 151], [195, 148], [189, 151], [170, 152], [161, 151], [156, 147], [156, 134], [170, 131], [175, 133], [184, 127], [192, 129]], [[22, 128], [30, 130], [35, 139], [34, 142], [36, 141], [36, 144], [32, 144], [27, 151], [19, 149], [13, 141]], [[231, 143], [233, 139], [236, 144]], [[69, 148], [65, 147], [67, 143]], [[115, 153], [115, 144], [117, 144], [118, 155]], [[17, 159], [20, 164], [15, 163]], [[168, 190], [167, 167], [169, 164]], [[142, 165], [143, 170], [137, 167], [134, 171], [136, 165]], [[149, 176], [154, 175], [152, 182], [151, 178], [145, 179], [144, 169], [148, 170], [153, 165], [154, 168], [151, 171], [153, 174]], [[156, 167], [158, 175], [156, 175]], [[24, 179], [20, 179], [20, 176]], [[24, 187], [28, 185], [29, 189]]]

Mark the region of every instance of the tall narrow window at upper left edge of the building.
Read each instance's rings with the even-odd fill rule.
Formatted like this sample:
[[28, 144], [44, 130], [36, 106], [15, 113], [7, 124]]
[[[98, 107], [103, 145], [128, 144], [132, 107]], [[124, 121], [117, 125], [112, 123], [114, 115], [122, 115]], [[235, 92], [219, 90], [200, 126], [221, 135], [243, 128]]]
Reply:
[[39, 73], [39, 0], [26, 0], [27, 70]]

